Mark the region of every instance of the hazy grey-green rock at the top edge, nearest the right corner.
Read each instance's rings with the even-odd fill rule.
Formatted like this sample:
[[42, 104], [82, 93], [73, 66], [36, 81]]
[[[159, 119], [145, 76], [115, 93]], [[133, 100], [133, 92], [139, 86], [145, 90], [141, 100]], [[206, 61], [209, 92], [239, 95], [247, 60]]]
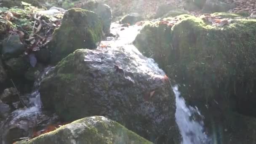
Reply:
[[227, 12], [229, 9], [235, 8], [235, 4], [228, 4], [220, 0], [206, 0], [202, 11], [208, 13]]

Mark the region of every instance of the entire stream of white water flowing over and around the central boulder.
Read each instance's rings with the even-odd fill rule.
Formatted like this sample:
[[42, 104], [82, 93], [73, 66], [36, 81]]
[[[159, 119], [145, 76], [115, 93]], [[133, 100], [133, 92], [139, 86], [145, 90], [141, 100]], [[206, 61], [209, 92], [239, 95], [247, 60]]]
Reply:
[[[107, 40], [101, 41], [99, 48], [122, 46], [141, 55], [132, 43], [142, 27], [134, 25], [125, 27], [123, 30], [121, 28], [120, 24], [112, 23], [111, 32], [116, 34], [116, 37], [107, 37]], [[148, 65], [153, 68], [157, 67], [153, 59], [149, 59]], [[34, 91], [26, 95], [29, 99], [26, 102], [27, 108], [13, 111], [0, 125], [0, 144], [12, 144], [13, 141], [26, 139], [26, 136], [33, 135], [34, 128], [54, 123], [58, 119], [54, 114], [48, 115], [47, 112], [43, 112], [40, 100], [40, 83], [49, 70], [51, 67], [45, 68], [34, 83]], [[203, 132], [203, 121], [191, 119], [193, 115], [201, 116], [199, 110], [196, 107], [186, 106], [185, 100], [180, 96], [178, 86], [173, 87], [173, 92], [176, 96], [176, 123], [183, 139], [182, 144], [211, 144], [210, 139]]]

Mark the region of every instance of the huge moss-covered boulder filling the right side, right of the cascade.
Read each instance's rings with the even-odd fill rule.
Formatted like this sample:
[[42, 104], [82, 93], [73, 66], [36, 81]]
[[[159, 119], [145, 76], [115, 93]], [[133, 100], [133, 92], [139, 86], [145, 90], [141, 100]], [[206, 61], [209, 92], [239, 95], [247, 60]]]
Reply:
[[[190, 16], [172, 28], [165, 27], [144, 27], [135, 40], [138, 49], [147, 56], [150, 51], [156, 53], [152, 58], [180, 84], [187, 104], [197, 106], [205, 116], [210, 135], [224, 134], [225, 144], [253, 141], [247, 128], [240, 132], [250, 140], [244, 137], [231, 142], [229, 135], [239, 136], [240, 132], [221, 131], [239, 123], [229, 126], [233, 123], [230, 117], [235, 117], [232, 111], [256, 116], [253, 112], [256, 110], [256, 20], [233, 19], [230, 24], [214, 26]], [[165, 38], [159, 38], [162, 41], [158, 39], [160, 34]], [[246, 119], [240, 121], [240, 125], [246, 123]], [[216, 128], [220, 128], [218, 132]]]

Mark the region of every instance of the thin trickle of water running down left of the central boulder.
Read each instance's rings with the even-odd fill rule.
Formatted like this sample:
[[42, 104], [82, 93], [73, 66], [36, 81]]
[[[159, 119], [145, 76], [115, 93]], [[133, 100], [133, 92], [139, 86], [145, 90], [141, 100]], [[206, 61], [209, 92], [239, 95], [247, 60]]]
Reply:
[[12, 129], [20, 129], [23, 133], [31, 135], [31, 130], [35, 128], [40, 120], [48, 118], [41, 112], [42, 102], [40, 100], [40, 83], [43, 80], [43, 77], [48, 73], [51, 67], [45, 68], [41, 73], [40, 77], [35, 81], [33, 91], [27, 94], [24, 97], [29, 99], [26, 102], [27, 108], [17, 109], [13, 111], [0, 125], [0, 144], [9, 144], [11, 143], [7, 137], [11, 137]]

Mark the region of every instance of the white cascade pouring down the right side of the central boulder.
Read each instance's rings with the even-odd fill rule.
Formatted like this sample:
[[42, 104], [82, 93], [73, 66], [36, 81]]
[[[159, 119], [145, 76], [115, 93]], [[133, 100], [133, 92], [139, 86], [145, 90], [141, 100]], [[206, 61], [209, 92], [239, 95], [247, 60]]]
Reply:
[[182, 144], [211, 144], [211, 140], [203, 132], [203, 120], [195, 120], [195, 117], [203, 117], [197, 107], [186, 105], [177, 85], [173, 87], [173, 92], [176, 97], [175, 118], [182, 136]]

